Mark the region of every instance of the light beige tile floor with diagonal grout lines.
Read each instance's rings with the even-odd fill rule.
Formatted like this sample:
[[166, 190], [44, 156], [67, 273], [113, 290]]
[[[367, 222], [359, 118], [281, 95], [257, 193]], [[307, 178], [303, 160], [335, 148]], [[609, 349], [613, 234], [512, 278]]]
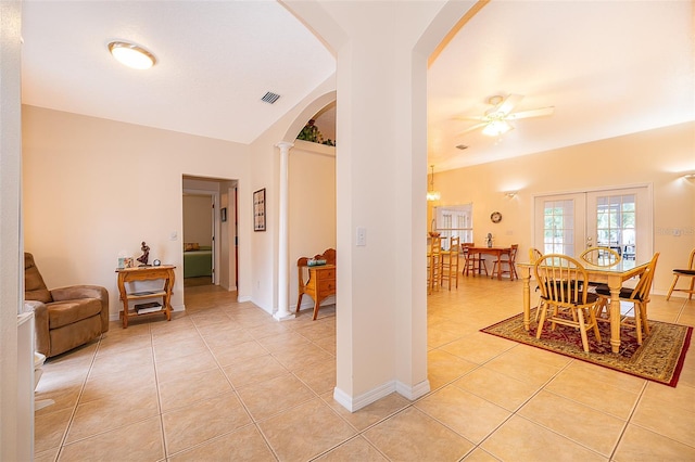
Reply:
[[[332, 308], [279, 323], [213, 286], [186, 306], [47, 362], [37, 461], [695, 460], [695, 351], [671, 388], [478, 332], [520, 311], [518, 281], [428, 296], [431, 393], [354, 413], [332, 399]], [[695, 300], [649, 317], [695, 325]]]

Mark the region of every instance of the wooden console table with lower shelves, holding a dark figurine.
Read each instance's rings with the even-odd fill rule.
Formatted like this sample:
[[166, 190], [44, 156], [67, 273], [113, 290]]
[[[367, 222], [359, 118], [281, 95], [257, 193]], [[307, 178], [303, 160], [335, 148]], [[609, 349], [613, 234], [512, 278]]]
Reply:
[[[172, 320], [172, 293], [174, 290], [174, 269], [173, 265], [162, 265], [160, 267], [136, 267], [117, 269], [118, 273], [118, 292], [121, 300], [123, 300], [123, 329], [128, 328], [129, 317], [139, 317], [148, 315], [163, 313], [166, 320]], [[126, 290], [126, 283], [135, 281], [156, 281], [163, 280], [164, 286], [161, 290], [130, 292]], [[162, 306], [160, 309], [146, 313], [138, 313], [135, 308], [130, 307], [128, 301], [144, 300], [162, 297]]]

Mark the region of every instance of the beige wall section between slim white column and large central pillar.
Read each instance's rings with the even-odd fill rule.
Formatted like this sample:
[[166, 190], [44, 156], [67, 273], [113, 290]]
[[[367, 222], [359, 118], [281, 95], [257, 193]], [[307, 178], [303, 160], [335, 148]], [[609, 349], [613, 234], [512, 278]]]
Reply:
[[[290, 311], [299, 295], [296, 260], [336, 248], [336, 149], [295, 141], [289, 157]], [[336, 298], [326, 299], [325, 305]], [[311, 297], [302, 306], [313, 307]]]

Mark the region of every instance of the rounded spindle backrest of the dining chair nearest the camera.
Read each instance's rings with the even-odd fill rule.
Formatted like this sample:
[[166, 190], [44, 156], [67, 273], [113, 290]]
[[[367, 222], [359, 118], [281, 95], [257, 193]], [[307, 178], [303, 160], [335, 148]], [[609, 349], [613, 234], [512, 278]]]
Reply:
[[589, 277], [581, 262], [560, 254], [547, 254], [535, 261], [535, 280], [541, 297], [561, 306], [585, 305]]

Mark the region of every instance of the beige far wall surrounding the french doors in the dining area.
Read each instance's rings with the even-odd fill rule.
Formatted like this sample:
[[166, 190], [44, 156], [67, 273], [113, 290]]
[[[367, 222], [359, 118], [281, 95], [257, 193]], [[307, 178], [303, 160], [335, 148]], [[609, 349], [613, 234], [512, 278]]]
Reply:
[[[518, 243], [520, 260], [533, 245], [534, 196], [650, 184], [654, 252], [661, 253], [654, 290], [665, 293], [671, 269], [695, 247], [695, 182], [684, 171], [695, 171], [695, 123], [444, 171], [434, 182], [437, 205], [473, 204], [476, 243], [492, 232], [495, 245]], [[508, 198], [505, 191], [519, 193]], [[504, 217], [497, 224], [490, 221], [494, 210]]]

